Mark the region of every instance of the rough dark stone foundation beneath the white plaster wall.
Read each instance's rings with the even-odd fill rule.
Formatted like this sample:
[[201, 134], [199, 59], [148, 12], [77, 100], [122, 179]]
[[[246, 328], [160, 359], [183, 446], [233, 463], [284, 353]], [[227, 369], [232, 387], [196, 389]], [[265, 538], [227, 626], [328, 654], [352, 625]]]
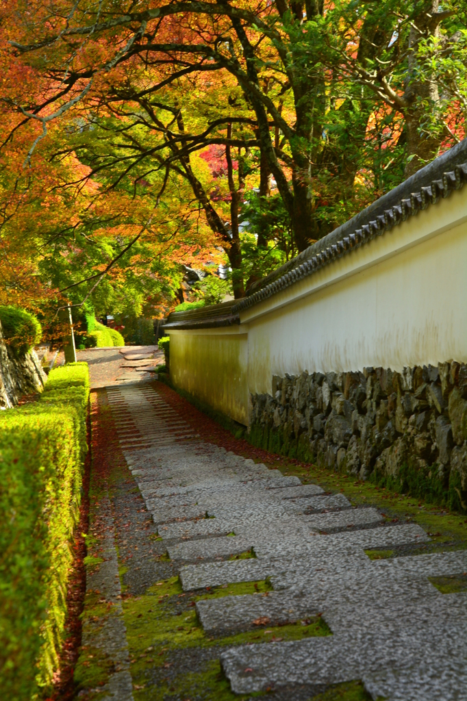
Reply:
[[250, 440], [467, 511], [467, 365], [304, 372], [250, 395]]

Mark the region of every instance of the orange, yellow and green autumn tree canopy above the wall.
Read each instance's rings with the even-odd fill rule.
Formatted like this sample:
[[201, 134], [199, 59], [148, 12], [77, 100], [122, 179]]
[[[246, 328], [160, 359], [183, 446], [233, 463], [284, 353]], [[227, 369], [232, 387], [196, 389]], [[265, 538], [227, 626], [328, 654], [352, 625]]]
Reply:
[[9, 0], [1, 300], [235, 297], [465, 135], [447, 0]]

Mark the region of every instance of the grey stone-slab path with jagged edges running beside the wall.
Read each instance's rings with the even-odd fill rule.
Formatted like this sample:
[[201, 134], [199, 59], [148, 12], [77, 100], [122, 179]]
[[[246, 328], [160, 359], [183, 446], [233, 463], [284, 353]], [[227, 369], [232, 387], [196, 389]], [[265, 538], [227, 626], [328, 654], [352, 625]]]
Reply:
[[[265, 578], [272, 585], [268, 595], [198, 600], [205, 633], [317, 615], [332, 632], [224, 647], [234, 693], [360, 679], [374, 700], [467, 700], [467, 592], [441, 594], [428, 580], [465, 573], [465, 550], [371, 560], [365, 550], [425, 543], [428, 535], [203, 442], [149, 383], [109, 386], [107, 397], [184, 592]], [[108, 698], [123, 700], [131, 698], [128, 655], [119, 654], [126, 681]]]

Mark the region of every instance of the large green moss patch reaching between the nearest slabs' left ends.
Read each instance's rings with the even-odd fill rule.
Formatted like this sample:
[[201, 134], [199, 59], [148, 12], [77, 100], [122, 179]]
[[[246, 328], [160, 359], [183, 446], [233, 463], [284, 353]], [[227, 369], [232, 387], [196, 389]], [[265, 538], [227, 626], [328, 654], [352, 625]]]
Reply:
[[190, 594], [182, 592], [180, 580], [174, 577], [149, 587], [142, 597], [123, 601], [135, 701], [190, 697], [202, 697], [203, 701], [246, 701], [257, 694], [232, 693], [219, 665], [223, 647], [330, 634], [325, 622], [316, 617], [306, 620], [305, 625], [297, 622], [258, 626], [217, 639], [205, 636], [196, 617], [196, 601], [238, 594], [267, 595], [269, 588], [264, 580]]

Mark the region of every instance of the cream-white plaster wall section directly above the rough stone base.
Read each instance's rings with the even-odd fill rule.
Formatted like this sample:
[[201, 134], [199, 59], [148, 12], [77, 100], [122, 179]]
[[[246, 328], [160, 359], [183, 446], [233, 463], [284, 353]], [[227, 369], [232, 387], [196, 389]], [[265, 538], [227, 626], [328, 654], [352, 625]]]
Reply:
[[466, 216], [467, 188], [242, 315], [250, 392], [285, 372], [466, 362]]

